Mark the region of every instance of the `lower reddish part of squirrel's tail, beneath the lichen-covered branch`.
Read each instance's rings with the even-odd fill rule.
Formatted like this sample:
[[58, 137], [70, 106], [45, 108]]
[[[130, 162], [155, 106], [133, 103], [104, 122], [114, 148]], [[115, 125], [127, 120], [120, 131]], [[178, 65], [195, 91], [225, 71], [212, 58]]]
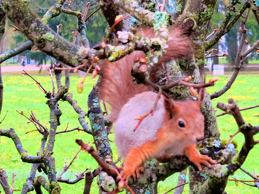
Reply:
[[133, 82], [131, 70], [135, 57], [146, 57], [146, 55], [143, 51], [133, 51], [118, 61], [111, 63], [105, 60], [102, 64], [104, 69], [99, 91], [101, 99], [111, 106], [112, 113], [107, 118], [109, 121], [115, 122], [117, 120], [121, 108], [130, 98], [149, 91], [147, 86]]

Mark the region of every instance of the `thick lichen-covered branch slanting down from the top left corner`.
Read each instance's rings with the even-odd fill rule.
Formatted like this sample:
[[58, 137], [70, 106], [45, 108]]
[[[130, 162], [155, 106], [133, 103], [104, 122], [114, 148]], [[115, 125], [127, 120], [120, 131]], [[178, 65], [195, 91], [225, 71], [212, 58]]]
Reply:
[[57, 60], [70, 65], [83, 64], [83, 54], [88, 50], [70, 43], [44, 25], [29, 8], [27, 1], [3, 1], [8, 18], [35, 46]]

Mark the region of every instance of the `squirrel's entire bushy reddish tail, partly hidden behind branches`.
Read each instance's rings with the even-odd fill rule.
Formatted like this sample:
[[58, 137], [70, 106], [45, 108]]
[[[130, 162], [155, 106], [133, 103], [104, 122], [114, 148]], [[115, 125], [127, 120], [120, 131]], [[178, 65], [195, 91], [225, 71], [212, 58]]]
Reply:
[[[192, 47], [190, 38], [186, 36], [186, 28], [182, 25], [173, 25], [167, 41], [168, 49], [163, 54], [156, 66], [150, 72], [150, 79], [155, 77], [156, 71], [161, 66], [161, 63], [168, 62], [172, 58], [183, 58], [188, 56]], [[154, 38], [155, 32], [153, 28], [146, 27], [137, 31], [142, 38]], [[146, 57], [143, 51], [133, 51], [130, 55], [122, 59], [109, 62], [105, 60], [102, 64], [102, 81], [100, 83], [100, 97], [111, 106], [112, 114], [108, 120], [115, 122], [119, 116], [120, 110], [130, 98], [136, 94], [150, 91], [143, 84], [135, 84], [131, 75], [131, 70], [134, 65], [134, 58]]]

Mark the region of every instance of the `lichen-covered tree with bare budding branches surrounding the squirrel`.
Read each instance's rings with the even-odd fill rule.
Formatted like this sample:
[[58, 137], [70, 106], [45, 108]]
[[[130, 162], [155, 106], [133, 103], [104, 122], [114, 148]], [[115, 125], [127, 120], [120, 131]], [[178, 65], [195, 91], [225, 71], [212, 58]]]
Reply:
[[[132, 72], [137, 82], [151, 85], [156, 91], [159, 90], [158, 88], [161, 88], [164, 91], [167, 91], [169, 96], [173, 97], [175, 100], [192, 99], [193, 96], [190, 93], [189, 87], [179, 87], [179, 84], [184, 86], [193, 86], [195, 88], [200, 88], [201, 85], [204, 87], [206, 85], [199, 84], [201, 81], [201, 75], [204, 73], [205, 51], [210, 50], [224, 34], [228, 33], [243, 14], [244, 19], [240, 22], [241, 39], [234, 63], [234, 74], [223, 89], [211, 95], [206, 93], [204, 104], [201, 109], [205, 117], [205, 139], [203, 140], [202, 145], [199, 146], [199, 151], [203, 154], [211, 156], [214, 159], [217, 159], [219, 164], [213, 165], [211, 169], [204, 168], [204, 170], [198, 172], [185, 156], [173, 156], [171, 161], [168, 163], [164, 163], [156, 167], [153, 165], [151, 168], [147, 167], [145, 172], [141, 175], [140, 180], [137, 183], [134, 183], [135, 185], [133, 185], [132, 180], [129, 182], [130, 187], [133, 188], [135, 193], [157, 193], [157, 182], [164, 180], [166, 177], [176, 172], [182, 172], [184, 174], [184, 170], [189, 166], [190, 193], [222, 193], [226, 187], [227, 181], [229, 180], [229, 175], [233, 174], [241, 167], [247, 158], [249, 151], [254, 145], [259, 143], [258, 140], [254, 140], [254, 135], [256, 135], [259, 131], [259, 126], [253, 127], [251, 124], [246, 123], [243, 120], [240, 110], [233, 99], [229, 99], [227, 105], [224, 103], [218, 103], [217, 107], [233, 115], [238, 125], [238, 132], [241, 132], [244, 135], [245, 141], [239, 152], [234, 149], [233, 144], [228, 144], [228, 146], [226, 146], [221, 143], [215, 111], [211, 105], [212, 99], [218, 98], [232, 86], [241, 69], [241, 66], [246, 59], [246, 56], [256, 50], [259, 46], [259, 41], [257, 41], [255, 44], [251, 45], [251, 48], [242, 52], [248, 33], [248, 29], [245, 25], [248, 20], [250, 9], [253, 14], [255, 14], [256, 21], [259, 24], [258, 17], [256, 15], [259, 12], [259, 8], [255, 5], [255, 2], [243, 2], [240, 10], [236, 11], [236, 4], [239, 3], [238, 1], [225, 1], [227, 11], [224, 19], [222, 19], [218, 30], [211, 34], [210, 37], [207, 37], [207, 33], [210, 33], [208, 30], [208, 21], [211, 20], [214, 13], [216, 5], [215, 0], [179, 0], [177, 1], [178, 8], [175, 9], [174, 17], [169, 17], [167, 12], [163, 12], [162, 10], [156, 11], [154, 9], [155, 4], [152, 2], [137, 2], [134, 0], [98, 1], [100, 9], [111, 26], [111, 31], [116, 34], [117, 31], [127, 29], [128, 31], [132, 31], [131, 35], [134, 38], [130, 38], [131, 36], [128, 36], [128, 41], [119, 46], [113, 46], [112, 44], [108, 44], [108, 42], [103, 42], [101, 46], [95, 46], [95, 49], [91, 49], [88, 43], [85, 25], [86, 15], [84, 16], [80, 11], [70, 10], [69, 6], [64, 4], [65, 0], [55, 3], [50, 9], [48, 9], [46, 14], [44, 14], [40, 20], [37, 14], [32, 12], [30, 6], [28, 6], [30, 2], [20, 0], [1, 1], [2, 29], [4, 28], [5, 23], [4, 14], [6, 14], [16, 28], [19, 29], [19, 31], [22, 32], [30, 41], [25, 42], [17, 49], [2, 54], [0, 56], [0, 61], [3, 62], [11, 56], [31, 49], [31, 47], [35, 45], [39, 50], [61, 62], [61, 64], [59, 64], [58, 67], [55, 67], [54, 70], [57, 88], [55, 87], [52, 78], [52, 71], [49, 72], [53, 82], [52, 91], [47, 91], [37, 80], [32, 78], [46, 95], [46, 103], [50, 109], [49, 129], [37, 120], [33, 112], [31, 112], [30, 116], [26, 116], [25, 113], [20, 112], [21, 115], [26, 116], [30, 122], [35, 124], [37, 131], [43, 137], [39, 152], [35, 155], [29, 155], [22, 146], [21, 141], [19, 140], [19, 137], [14, 129], [11, 128], [10, 130], [0, 130], [1, 136], [6, 136], [13, 140], [21, 156], [21, 160], [32, 163], [30, 176], [27, 178], [26, 184], [23, 185], [23, 190], [21, 193], [27, 193], [33, 189], [35, 189], [36, 193], [42, 193], [42, 187], [47, 190], [48, 193], [60, 193], [61, 188], [58, 182], [74, 184], [82, 180], [83, 177], [85, 177], [84, 193], [89, 193], [93, 177], [97, 175], [100, 177], [100, 193], [103, 191], [117, 193], [121, 187], [124, 186], [123, 181], [116, 181], [117, 172], [120, 171], [120, 169], [115, 166], [115, 162], [113, 163], [113, 155], [108, 138], [111, 124], [103, 118], [103, 111], [100, 107], [100, 101], [97, 98], [98, 84], [93, 87], [88, 97], [87, 116], [89, 117], [91, 124], [91, 128], [89, 128], [84, 120], [86, 113], [77, 105], [77, 102], [73, 99], [72, 93], [68, 92], [70, 85], [68, 70], [73, 68], [87, 72], [90, 71], [92, 72], [92, 77], [95, 77], [97, 71], [102, 71], [102, 66], [99, 60], [108, 58], [110, 61], [116, 61], [129, 54], [133, 49], [144, 50], [147, 54], [149, 54], [147, 56], [148, 60], [144, 62], [144, 64], [141, 64], [145, 65], [146, 71], [139, 72], [138, 69], [140, 64], [136, 63]], [[68, 5], [69, 4], [70, 2], [68, 2]], [[82, 8], [82, 10], [87, 10], [87, 7]], [[77, 46], [76, 44], [62, 38], [59, 33], [56, 33], [56, 31], [53, 31], [46, 25], [49, 21], [51, 21], [51, 18], [58, 17], [61, 13], [70, 14], [77, 18], [78, 32], [80, 33], [81, 41], [84, 47]], [[128, 16], [127, 19], [119, 17], [119, 21], [115, 22], [114, 19], [120, 13], [123, 13], [124, 16], [131, 14], [131, 17]], [[169, 84], [162, 83], [160, 86], [159, 83], [150, 83], [148, 80], [148, 75], [150, 71], [152, 71], [152, 63], [156, 63], [157, 58], [161, 57], [162, 53], [166, 52], [164, 43], [167, 41], [167, 36], [160, 36], [161, 33], [156, 33], [155, 38], [158, 38], [159, 41], [155, 41], [155, 39], [150, 40], [152, 44], [156, 45], [156, 47], [152, 49], [152, 47], [147, 44], [148, 41], [133, 35], [134, 27], [136, 27], [136, 25], [134, 25], [136, 20], [133, 20], [133, 17], [142, 23], [138, 23], [138, 25], [154, 27], [155, 32], [164, 30], [164, 33], [168, 33], [168, 29], [174, 22], [180, 22], [189, 28], [190, 37], [194, 42], [196, 42], [194, 55], [185, 60], [179, 60], [176, 63], [172, 61], [171, 63], [165, 64], [164, 67], [167, 70], [166, 74], [164, 73], [164, 69], [161, 67], [161, 69], [157, 70], [156, 78], [160, 80], [167, 77], [166, 75], [176, 76], [181, 74], [183, 77], [191, 76], [191, 83], [180, 81], [178, 79], [179, 77], [172, 77]], [[120, 22], [121, 20], [123, 20], [123, 22]], [[3, 33], [3, 30], [1, 33]], [[64, 36], [66, 36], [66, 33], [64, 33]], [[116, 35], [114, 40], [117, 42]], [[111, 39], [109, 42], [112, 42]], [[105, 51], [103, 50], [104, 48]], [[215, 57], [219, 56], [217, 55]], [[72, 68], [67, 68], [67, 65]], [[65, 83], [63, 85], [61, 84], [61, 70], [66, 70]], [[23, 74], [32, 77], [25, 71]], [[213, 81], [210, 81], [209, 85], [213, 85]], [[82, 90], [83, 82], [78, 84], [78, 91], [81, 92]], [[3, 87], [0, 87], [0, 94], [3, 95]], [[59, 175], [56, 173], [56, 163], [54, 157], [52, 156], [54, 141], [57, 133], [79, 130], [77, 128], [71, 130], [66, 129], [59, 132], [56, 131], [57, 126], [60, 125], [60, 116], [62, 114], [58, 106], [60, 100], [68, 101], [78, 113], [78, 120], [83, 128], [81, 130], [93, 136], [95, 147], [98, 151], [97, 152], [91, 146], [84, 144], [82, 140], [76, 141], [82, 149], [88, 151], [93, 158], [96, 159], [99, 163], [99, 167], [87, 173], [84, 171], [78, 174], [76, 180], [74, 181], [65, 180], [62, 178], [62, 174], [66, 172], [69, 165], [66, 165], [64, 170]], [[1, 101], [0, 105], [2, 107]], [[231, 141], [229, 143], [231, 143]], [[47, 179], [43, 176], [35, 177], [35, 172], [37, 170], [44, 171], [47, 174]], [[7, 182], [6, 173], [2, 169], [0, 170], [0, 176], [0, 183], [4, 188], [5, 193], [12, 193], [13, 187], [10, 189]], [[258, 178], [251, 174], [250, 176], [255, 182], [255, 185], [253, 186], [259, 188], [256, 184], [258, 182]], [[180, 178], [179, 181], [181, 181]], [[131, 192], [133, 193], [133, 191]]]

